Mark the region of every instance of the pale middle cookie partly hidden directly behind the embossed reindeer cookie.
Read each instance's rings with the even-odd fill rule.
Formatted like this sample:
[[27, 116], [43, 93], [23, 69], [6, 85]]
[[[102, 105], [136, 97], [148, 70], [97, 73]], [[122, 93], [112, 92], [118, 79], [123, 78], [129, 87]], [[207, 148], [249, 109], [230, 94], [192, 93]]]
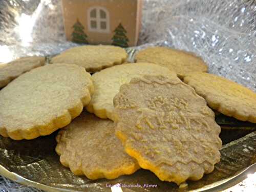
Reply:
[[93, 74], [95, 92], [86, 108], [87, 111], [100, 118], [113, 120], [113, 98], [119, 92], [120, 86], [130, 82], [133, 77], [151, 74], [177, 77], [174, 72], [151, 63], [128, 63]]

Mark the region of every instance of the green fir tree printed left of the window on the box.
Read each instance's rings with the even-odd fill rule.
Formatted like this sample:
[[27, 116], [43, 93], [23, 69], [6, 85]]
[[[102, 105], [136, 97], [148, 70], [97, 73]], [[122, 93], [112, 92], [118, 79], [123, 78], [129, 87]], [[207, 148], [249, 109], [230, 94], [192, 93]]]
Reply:
[[78, 44], [88, 44], [87, 35], [84, 33], [84, 27], [77, 19], [76, 23], [73, 25], [74, 31], [72, 33], [72, 41]]

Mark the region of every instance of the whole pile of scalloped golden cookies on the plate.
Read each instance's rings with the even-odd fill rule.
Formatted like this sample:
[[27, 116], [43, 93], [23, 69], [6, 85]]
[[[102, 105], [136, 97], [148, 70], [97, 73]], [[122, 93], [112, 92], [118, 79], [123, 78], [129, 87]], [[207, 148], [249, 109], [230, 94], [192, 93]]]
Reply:
[[126, 58], [122, 48], [81, 46], [47, 65], [41, 57], [4, 65], [0, 134], [34, 139], [61, 128], [56, 152], [75, 175], [115, 179], [144, 168], [179, 185], [220, 161], [212, 109], [256, 123], [256, 94], [206, 73], [196, 55], [154, 47], [136, 63]]

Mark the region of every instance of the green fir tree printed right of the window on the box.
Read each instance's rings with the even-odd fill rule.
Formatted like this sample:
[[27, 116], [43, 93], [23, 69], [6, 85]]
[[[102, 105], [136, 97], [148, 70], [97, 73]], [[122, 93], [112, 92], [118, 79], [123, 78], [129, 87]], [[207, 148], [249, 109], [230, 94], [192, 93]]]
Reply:
[[126, 37], [127, 31], [123, 28], [122, 24], [120, 23], [118, 27], [115, 29], [115, 35], [112, 37], [112, 45], [113, 46], [120, 46], [120, 47], [128, 47], [127, 42], [129, 39]]

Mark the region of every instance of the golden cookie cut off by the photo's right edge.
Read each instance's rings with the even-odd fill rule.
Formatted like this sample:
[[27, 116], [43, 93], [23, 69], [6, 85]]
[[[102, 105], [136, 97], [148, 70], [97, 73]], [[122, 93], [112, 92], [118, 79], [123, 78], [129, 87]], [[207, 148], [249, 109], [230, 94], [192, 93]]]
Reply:
[[220, 113], [256, 123], [256, 93], [224, 77], [191, 73], [184, 82], [195, 88], [207, 104]]

